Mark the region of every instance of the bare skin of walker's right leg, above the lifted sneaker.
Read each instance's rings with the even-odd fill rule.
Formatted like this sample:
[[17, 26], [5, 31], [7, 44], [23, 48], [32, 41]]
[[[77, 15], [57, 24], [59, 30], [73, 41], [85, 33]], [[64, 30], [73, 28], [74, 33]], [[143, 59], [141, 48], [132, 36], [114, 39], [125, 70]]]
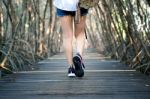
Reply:
[[85, 20], [86, 16], [82, 16], [80, 23], [75, 24], [75, 37], [76, 37], [76, 43], [77, 43], [77, 52], [82, 56], [83, 55], [83, 49], [85, 44]]

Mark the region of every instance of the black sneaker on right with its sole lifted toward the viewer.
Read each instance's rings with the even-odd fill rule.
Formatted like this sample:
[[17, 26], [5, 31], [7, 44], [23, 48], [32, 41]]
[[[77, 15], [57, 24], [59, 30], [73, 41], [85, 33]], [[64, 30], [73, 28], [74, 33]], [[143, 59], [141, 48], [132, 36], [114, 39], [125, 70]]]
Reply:
[[75, 75], [77, 77], [83, 77], [84, 76], [84, 64], [82, 62], [82, 57], [80, 54], [76, 54], [76, 56], [73, 57], [73, 63], [75, 66]]

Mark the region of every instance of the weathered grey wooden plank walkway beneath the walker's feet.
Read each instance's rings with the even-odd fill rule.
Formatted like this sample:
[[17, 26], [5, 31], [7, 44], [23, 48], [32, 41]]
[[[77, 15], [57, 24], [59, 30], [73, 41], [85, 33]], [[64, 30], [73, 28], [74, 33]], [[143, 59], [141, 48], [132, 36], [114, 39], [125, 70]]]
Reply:
[[64, 54], [38, 69], [0, 80], [0, 99], [150, 99], [150, 77], [96, 52], [85, 54], [85, 76], [68, 78]]

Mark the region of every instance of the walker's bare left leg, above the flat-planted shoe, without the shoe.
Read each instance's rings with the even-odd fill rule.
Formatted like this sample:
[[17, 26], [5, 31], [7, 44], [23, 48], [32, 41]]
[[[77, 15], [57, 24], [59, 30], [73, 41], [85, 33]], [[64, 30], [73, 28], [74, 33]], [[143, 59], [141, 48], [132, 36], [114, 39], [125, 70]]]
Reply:
[[61, 27], [63, 31], [63, 46], [69, 66], [72, 65], [72, 41], [73, 41], [73, 17], [63, 16], [60, 17]]

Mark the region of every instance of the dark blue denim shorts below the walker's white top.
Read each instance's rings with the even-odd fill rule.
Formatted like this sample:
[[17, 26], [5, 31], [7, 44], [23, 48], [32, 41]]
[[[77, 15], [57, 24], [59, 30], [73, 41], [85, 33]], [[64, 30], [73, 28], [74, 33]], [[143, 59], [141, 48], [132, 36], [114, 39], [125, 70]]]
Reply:
[[[81, 13], [81, 16], [84, 16], [88, 13], [88, 9], [80, 8], [80, 13]], [[66, 10], [61, 10], [57, 8], [56, 15], [59, 17], [66, 16], [66, 15], [75, 16], [75, 11], [66, 11]]]

